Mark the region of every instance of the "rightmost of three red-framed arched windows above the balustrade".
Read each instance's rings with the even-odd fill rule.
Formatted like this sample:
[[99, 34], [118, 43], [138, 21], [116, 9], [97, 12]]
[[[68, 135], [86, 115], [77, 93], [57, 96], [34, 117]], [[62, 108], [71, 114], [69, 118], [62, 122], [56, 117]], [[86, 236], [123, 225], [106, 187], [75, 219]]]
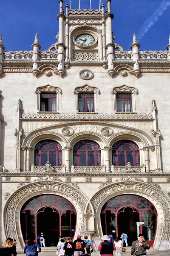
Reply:
[[112, 146], [112, 161], [115, 166], [139, 166], [139, 147], [130, 140], [119, 140]]

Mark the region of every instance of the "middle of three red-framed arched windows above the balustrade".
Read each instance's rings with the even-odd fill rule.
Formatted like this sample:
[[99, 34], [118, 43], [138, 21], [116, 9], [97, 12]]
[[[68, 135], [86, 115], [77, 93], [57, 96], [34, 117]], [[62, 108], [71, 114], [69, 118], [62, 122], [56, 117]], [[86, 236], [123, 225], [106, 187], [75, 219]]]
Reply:
[[92, 140], [81, 140], [74, 145], [75, 166], [100, 166], [100, 147]]

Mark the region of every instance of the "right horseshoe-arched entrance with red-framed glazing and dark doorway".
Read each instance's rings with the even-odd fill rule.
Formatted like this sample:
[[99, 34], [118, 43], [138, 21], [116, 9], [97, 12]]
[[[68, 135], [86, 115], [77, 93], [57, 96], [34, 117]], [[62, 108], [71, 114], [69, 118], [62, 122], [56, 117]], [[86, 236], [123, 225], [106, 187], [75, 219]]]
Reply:
[[120, 237], [122, 232], [127, 233], [128, 245], [137, 239], [136, 222], [144, 222], [140, 232], [144, 238], [153, 241], [156, 233], [157, 212], [153, 204], [146, 198], [138, 195], [118, 195], [108, 200], [101, 211], [103, 234], [113, 233]]

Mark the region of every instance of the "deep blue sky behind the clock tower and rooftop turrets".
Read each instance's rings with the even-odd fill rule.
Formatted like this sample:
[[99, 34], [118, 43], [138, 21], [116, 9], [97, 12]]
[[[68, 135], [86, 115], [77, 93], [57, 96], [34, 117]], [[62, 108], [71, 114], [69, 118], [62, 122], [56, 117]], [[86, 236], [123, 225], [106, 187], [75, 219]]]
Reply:
[[[56, 42], [58, 32], [58, 0], [1, 0], [0, 34], [6, 51], [31, 50], [35, 33], [41, 50]], [[70, 3], [64, 0], [63, 6]], [[78, 9], [79, 0], [71, 0]], [[101, 0], [105, 6], [106, 0]], [[80, 0], [80, 9], [89, 9], [89, 0]], [[91, 8], [99, 9], [99, 0], [91, 0]], [[170, 35], [170, 0], [112, 0], [111, 12], [115, 42], [130, 50], [133, 33], [140, 50], [166, 50]]]

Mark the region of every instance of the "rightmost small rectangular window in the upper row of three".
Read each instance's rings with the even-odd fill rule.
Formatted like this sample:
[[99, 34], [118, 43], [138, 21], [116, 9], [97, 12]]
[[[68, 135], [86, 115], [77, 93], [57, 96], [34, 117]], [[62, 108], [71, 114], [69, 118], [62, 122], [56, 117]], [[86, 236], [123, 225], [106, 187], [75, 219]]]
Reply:
[[131, 93], [116, 94], [117, 112], [132, 112], [132, 95]]

